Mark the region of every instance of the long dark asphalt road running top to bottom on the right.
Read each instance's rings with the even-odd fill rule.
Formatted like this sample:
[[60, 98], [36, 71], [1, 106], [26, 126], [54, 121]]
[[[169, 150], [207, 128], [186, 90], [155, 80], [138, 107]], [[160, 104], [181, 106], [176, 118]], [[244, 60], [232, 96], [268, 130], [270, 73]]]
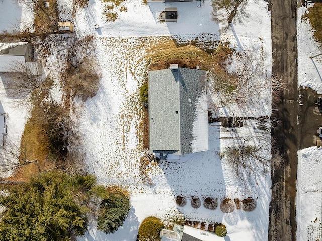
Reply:
[[[286, 90], [273, 116], [280, 123], [272, 128], [273, 147], [285, 155], [285, 165], [272, 167], [272, 202], [268, 240], [296, 240], [296, 175], [299, 145], [296, 0], [271, 0], [274, 77], [281, 78]], [[274, 171], [273, 171], [274, 170]]]

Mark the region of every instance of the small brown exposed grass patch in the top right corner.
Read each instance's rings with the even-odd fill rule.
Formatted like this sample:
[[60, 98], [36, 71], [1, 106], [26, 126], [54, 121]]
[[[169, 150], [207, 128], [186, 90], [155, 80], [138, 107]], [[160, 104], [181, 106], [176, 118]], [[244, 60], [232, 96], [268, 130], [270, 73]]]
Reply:
[[307, 19], [314, 31], [314, 39], [322, 44], [322, 3], [315, 3], [308, 8], [308, 13], [305, 13], [302, 18]]

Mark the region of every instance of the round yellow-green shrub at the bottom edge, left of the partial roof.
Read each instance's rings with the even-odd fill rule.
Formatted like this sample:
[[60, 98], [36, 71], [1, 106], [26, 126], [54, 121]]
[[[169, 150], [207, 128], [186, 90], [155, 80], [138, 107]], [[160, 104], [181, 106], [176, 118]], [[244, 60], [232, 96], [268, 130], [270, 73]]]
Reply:
[[138, 241], [160, 241], [160, 232], [163, 227], [160, 219], [156, 217], [145, 218], [139, 228]]

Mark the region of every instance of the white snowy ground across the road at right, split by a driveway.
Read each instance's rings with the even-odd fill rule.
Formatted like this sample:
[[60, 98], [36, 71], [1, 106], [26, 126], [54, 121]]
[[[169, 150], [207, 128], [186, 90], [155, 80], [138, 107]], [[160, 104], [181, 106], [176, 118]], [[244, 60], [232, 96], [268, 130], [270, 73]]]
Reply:
[[[309, 5], [310, 7], [312, 5]], [[301, 16], [307, 7], [298, 9], [298, 84], [322, 94], [322, 48], [313, 39], [308, 21]], [[322, 149], [315, 147], [298, 151], [296, 221], [297, 240], [322, 238]]]

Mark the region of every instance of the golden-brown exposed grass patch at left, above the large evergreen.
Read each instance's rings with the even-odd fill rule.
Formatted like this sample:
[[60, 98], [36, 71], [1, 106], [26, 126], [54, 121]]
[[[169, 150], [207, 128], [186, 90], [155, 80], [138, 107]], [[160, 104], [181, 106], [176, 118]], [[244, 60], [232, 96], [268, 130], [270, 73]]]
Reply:
[[[51, 79], [45, 81], [50, 84]], [[47, 91], [34, 90], [31, 95], [33, 108], [21, 138], [19, 155], [25, 160], [38, 160], [39, 166], [23, 165], [10, 180], [26, 181], [35, 173], [61, 163], [66, 154], [64, 126], [68, 110], [49, 101]]]

